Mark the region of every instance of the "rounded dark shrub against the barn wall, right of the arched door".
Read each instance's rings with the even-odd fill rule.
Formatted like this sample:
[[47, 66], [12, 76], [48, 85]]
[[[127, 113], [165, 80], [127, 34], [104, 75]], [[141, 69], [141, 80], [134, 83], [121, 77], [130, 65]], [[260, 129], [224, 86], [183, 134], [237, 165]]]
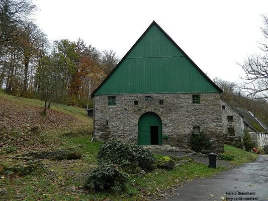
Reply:
[[192, 132], [190, 143], [193, 151], [201, 152], [202, 150], [209, 150], [212, 146], [210, 139], [201, 131], [200, 133]]

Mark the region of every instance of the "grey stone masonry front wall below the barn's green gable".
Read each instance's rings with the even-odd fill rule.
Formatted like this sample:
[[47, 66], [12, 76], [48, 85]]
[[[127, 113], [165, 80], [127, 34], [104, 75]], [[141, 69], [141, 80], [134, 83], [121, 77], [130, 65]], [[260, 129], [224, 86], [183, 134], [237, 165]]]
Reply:
[[[223, 132], [219, 93], [200, 94], [200, 104], [192, 103], [192, 93], [117, 94], [116, 106], [108, 106], [108, 95], [95, 96], [95, 138], [111, 137], [138, 143], [138, 121], [146, 112], [156, 113], [162, 120], [163, 146], [190, 150], [190, 136], [199, 126], [213, 142], [213, 151], [223, 152]], [[109, 95], [110, 96], [110, 95]], [[145, 100], [152, 96], [153, 100]], [[134, 106], [134, 100], [138, 105]], [[164, 104], [159, 105], [159, 100]]]

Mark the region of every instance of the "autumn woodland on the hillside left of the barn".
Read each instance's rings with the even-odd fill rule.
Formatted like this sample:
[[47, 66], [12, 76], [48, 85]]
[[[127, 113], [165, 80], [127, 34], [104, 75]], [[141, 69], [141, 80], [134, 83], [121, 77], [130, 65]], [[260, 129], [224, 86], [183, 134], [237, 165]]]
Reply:
[[119, 61], [82, 39], [49, 43], [30, 0], [1, 0], [0, 10], [0, 85], [9, 94], [84, 107]]

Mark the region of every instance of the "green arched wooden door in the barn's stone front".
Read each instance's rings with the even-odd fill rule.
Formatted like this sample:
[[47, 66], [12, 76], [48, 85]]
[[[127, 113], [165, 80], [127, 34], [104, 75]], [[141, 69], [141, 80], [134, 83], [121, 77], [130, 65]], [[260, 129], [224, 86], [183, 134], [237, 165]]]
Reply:
[[158, 115], [152, 112], [143, 114], [139, 119], [138, 129], [139, 129], [139, 145], [151, 145], [154, 139], [153, 131], [157, 130], [158, 127], [158, 145], [162, 145], [162, 121]]

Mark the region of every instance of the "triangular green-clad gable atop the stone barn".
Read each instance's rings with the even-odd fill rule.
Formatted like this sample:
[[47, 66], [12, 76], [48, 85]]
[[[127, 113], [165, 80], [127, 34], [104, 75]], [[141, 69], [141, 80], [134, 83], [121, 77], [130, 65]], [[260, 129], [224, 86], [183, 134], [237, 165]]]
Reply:
[[222, 90], [153, 21], [92, 96], [176, 92]]

